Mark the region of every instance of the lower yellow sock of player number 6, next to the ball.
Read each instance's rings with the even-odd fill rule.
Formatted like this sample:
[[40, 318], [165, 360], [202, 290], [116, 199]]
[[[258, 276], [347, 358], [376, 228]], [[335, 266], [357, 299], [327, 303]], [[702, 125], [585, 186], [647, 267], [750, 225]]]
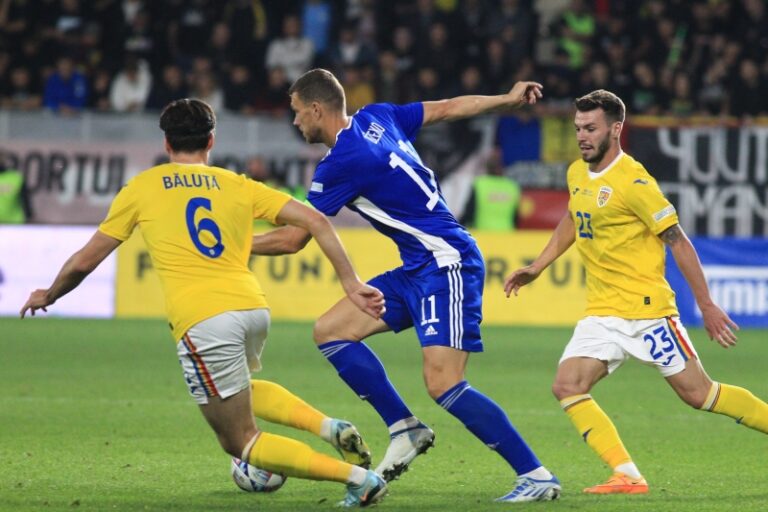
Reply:
[[354, 469], [351, 464], [316, 452], [300, 441], [266, 432], [261, 432], [251, 447], [248, 463], [285, 476], [342, 483], [350, 481]]

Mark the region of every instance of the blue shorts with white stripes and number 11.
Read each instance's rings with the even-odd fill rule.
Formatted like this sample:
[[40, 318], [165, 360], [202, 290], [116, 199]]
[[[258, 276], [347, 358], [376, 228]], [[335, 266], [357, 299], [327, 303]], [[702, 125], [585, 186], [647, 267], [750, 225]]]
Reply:
[[409, 272], [402, 267], [369, 281], [384, 293], [383, 320], [395, 332], [415, 327], [422, 347], [439, 345], [482, 352], [480, 322], [485, 266], [482, 259]]

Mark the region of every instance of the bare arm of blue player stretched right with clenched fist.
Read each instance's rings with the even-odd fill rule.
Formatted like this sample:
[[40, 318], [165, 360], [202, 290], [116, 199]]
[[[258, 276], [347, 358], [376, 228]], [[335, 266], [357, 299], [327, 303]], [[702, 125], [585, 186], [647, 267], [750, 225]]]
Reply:
[[425, 101], [424, 121], [428, 125], [441, 121], [456, 121], [467, 117], [504, 112], [523, 105], [533, 105], [542, 97], [543, 86], [538, 82], [517, 82], [506, 94], [496, 96], [457, 96], [448, 100]]

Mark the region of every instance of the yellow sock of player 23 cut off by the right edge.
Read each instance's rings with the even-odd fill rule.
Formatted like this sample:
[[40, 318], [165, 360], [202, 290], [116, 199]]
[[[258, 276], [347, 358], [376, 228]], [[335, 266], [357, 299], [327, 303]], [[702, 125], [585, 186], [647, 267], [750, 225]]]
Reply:
[[736, 423], [768, 434], [768, 404], [744, 388], [713, 382], [701, 410], [730, 416]]

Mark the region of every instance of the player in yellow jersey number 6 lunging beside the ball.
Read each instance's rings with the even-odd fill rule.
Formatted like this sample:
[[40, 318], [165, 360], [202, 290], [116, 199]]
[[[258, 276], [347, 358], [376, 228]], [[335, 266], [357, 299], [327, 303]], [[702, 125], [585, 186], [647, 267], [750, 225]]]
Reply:
[[375, 472], [256, 426], [254, 415], [301, 428], [348, 461], [370, 464], [370, 452], [350, 423], [327, 417], [277, 384], [250, 380], [261, 367], [270, 321], [247, 264], [253, 219], [309, 230], [349, 299], [374, 318], [384, 312], [383, 295], [359, 280], [324, 215], [260, 182], [208, 166], [215, 125], [213, 110], [202, 101], [169, 104], [160, 128], [170, 163], [123, 187], [91, 240], [67, 260], [50, 288], [32, 292], [21, 317], [46, 311], [72, 291], [139, 226], [165, 292], [189, 392], [224, 451], [286, 476], [346, 483], [345, 506], [373, 503], [386, 492]]

